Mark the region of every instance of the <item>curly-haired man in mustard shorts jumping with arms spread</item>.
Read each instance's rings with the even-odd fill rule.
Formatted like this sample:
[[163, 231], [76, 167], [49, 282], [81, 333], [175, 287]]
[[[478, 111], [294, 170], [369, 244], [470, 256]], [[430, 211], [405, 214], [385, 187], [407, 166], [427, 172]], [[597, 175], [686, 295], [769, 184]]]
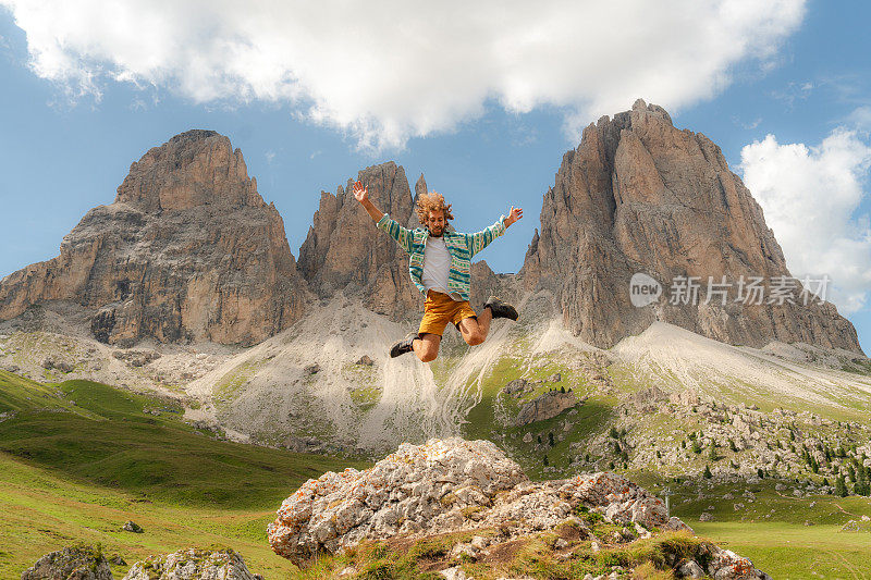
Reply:
[[494, 318], [517, 320], [517, 310], [495, 296], [483, 305], [480, 316], [469, 306], [469, 270], [471, 257], [501, 236], [505, 229], [523, 218], [520, 208], [512, 207], [508, 217], [502, 215], [490, 227], [461, 234], [447, 230], [454, 219], [451, 205], [440, 194], [421, 195], [417, 201], [417, 219], [425, 227], [407, 230], [382, 213], [369, 199], [361, 182], [354, 184], [354, 197], [359, 201], [379, 230], [387, 232], [410, 255], [408, 273], [412, 282], [426, 296], [424, 320], [416, 333], [410, 333], [390, 349], [391, 357], [414, 351], [422, 362], [436, 360], [442, 333], [453, 323], [469, 345], [481, 344]]

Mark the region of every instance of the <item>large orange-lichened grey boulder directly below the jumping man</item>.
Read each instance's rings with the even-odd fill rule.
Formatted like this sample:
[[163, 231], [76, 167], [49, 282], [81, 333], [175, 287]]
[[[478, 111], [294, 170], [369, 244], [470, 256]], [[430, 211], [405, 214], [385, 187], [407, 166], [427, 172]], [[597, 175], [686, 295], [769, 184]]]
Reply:
[[304, 562], [364, 539], [507, 525], [556, 526], [580, 505], [615, 522], [682, 528], [659, 498], [614, 473], [533, 483], [489, 441], [403, 443], [371, 469], [327, 472], [284, 501], [269, 526], [277, 554]]

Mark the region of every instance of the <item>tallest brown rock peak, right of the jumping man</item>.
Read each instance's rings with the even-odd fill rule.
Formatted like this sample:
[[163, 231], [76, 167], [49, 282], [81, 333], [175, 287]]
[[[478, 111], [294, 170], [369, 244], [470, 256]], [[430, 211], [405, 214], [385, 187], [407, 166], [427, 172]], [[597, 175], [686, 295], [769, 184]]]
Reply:
[[[635, 307], [629, 281], [637, 272], [666, 293], [678, 276], [699, 276], [698, 303], [673, 305], [663, 295]], [[631, 111], [588, 126], [578, 148], [565, 153], [522, 275], [528, 289], [552, 294], [575, 334], [600, 347], [659, 320], [729, 344], [777, 340], [861, 351], [852, 324], [830, 303], [736, 300], [741, 276], [764, 280], [765, 301], [777, 276], [801, 286], [720, 148], [674, 127], [667, 112], [640, 99]], [[732, 285], [725, 305], [719, 296], [702, 304], [709, 276]]]

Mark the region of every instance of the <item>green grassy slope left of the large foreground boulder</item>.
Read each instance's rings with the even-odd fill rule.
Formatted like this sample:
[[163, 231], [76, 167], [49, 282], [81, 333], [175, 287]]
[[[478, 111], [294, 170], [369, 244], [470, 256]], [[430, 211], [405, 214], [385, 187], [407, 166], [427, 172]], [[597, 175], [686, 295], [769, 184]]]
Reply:
[[[0, 371], [0, 412], [14, 412], [0, 421], [0, 578], [79, 541], [128, 565], [224, 545], [267, 578], [287, 578], [294, 567], [266, 539], [275, 509], [308, 478], [365, 464], [218, 441], [180, 411], [99, 383]], [[127, 519], [145, 533], [122, 532]]]

